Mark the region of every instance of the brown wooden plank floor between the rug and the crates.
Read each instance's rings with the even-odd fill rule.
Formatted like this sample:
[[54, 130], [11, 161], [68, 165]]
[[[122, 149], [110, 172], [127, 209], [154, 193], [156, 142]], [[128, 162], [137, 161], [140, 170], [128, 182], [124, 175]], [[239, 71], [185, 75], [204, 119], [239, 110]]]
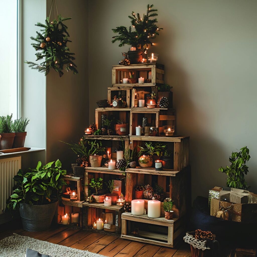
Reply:
[[93, 230], [80, 230], [59, 226], [42, 232], [29, 232], [22, 228], [0, 226], [0, 240], [17, 233], [34, 237], [54, 244], [69, 246], [80, 250], [99, 253], [109, 257], [190, 257], [191, 251], [187, 244], [179, 248], [135, 242], [115, 235], [96, 233]]

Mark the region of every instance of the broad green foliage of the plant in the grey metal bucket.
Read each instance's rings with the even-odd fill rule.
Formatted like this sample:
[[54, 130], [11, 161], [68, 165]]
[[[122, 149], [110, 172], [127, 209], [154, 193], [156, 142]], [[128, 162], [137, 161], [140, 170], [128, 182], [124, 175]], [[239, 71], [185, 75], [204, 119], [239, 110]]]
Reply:
[[62, 186], [66, 184], [63, 175], [66, 170], [61, 169], [61, 162], [57, 160], [42, 166], [41, 162], [35, 169], [19, 170], [14, 176], [16, 182], [14, 194], [8, 199], [8, 208], [15, 210], [20, 203], [31, 205], [45, 205], [56, 201], [62, 194]]

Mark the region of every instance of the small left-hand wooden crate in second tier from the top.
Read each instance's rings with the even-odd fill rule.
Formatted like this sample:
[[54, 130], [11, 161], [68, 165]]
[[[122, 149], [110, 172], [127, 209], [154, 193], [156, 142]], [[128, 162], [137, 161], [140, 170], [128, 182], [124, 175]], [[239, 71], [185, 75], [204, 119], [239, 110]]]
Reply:
[[[114, 96], [121, 96], [123, 99], [126, 99], [126, 107], [131, 106], [131, 90], [132, 87], [108, 87], [107, 102], [108, 106], [112, 107], [112, 100]], [[112, 107], [113, 108], [113, 107]]]

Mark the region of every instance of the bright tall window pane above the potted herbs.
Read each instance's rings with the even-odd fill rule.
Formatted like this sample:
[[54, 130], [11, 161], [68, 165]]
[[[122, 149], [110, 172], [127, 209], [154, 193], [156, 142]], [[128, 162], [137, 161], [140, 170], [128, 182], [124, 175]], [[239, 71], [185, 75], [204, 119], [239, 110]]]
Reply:
[[0, 0], [0, 116], [19, 117], [19, 1]]

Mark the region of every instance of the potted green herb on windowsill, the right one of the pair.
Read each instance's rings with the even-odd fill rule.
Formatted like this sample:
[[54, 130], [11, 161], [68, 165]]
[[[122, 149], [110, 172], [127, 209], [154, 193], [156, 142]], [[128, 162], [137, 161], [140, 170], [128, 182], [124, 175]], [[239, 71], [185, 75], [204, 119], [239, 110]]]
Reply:
[[25, 139], [26, 139], [26, 127], [29, 124], [30, 120], [22, 120], [21, 118], [15, 120], [12, 124], [12, 130], [15, 132], [15, 137], [13, 141], [13, 148], [24, 147]]

